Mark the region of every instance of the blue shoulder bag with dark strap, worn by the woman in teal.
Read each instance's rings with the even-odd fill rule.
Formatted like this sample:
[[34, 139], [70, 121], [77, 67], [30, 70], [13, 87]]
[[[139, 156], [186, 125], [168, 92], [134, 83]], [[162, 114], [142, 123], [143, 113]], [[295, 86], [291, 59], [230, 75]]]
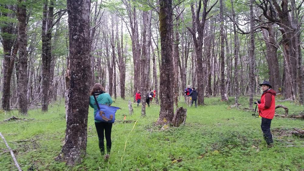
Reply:
[[101, 121], [101, 122], [107, 122], [107, 123], [114, 123], [115, 121], [115, 113], [116, 110], [120, 109], [119, 107], [115, 106], [109, 106], [104, 104], [99, 104], [97, 102], [97, 99], [95, 96], [98, 96], [100, 94], [104, 93], [102, 92], [94, 92], [93, 96], [95, 99], [95, 103], [97, 105], [98, 111], [94, 114], [94, 119]]

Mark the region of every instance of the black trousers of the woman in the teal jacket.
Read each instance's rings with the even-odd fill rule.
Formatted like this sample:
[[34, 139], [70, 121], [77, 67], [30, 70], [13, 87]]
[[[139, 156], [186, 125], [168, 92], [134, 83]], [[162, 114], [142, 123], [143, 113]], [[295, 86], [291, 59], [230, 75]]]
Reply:
[[101, 154], [102, 155], [105, 154], [104, 135], [107, 143], [107, 153], [110, 154], [111, 146], [112, 146], [112, 142], [111, 142], [112, 123], [95, 122], [95, 127], [98, 134], [99, 149]]

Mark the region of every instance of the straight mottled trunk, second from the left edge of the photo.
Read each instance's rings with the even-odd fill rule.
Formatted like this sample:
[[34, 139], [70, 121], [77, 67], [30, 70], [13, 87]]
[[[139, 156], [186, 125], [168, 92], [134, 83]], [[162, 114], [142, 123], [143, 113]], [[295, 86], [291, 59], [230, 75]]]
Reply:
[[19, 114], [27, 115], [27, 86], [29, 78], [27, 77], [27, 38], [26, 38], [26, 5], [19, 0], [17, 8], [18, 18], [18, 38], [19, 38]]

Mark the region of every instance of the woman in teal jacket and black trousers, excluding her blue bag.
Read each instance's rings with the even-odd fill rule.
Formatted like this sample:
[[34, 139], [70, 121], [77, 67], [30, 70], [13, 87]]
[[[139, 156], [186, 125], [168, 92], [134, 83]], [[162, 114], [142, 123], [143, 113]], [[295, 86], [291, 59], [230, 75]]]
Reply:
[[[94, 99], [94, 93], [96, 92], [98, 92], [98, 94], [101, 93], [98, 96], [95, 96], [99, 104], [111, 105], [113, 103], [111, 96], [109, 95], [109, 93], [105, 92], [105, 89], [102, 87], [102, 85], [99, 83], [95, 83], [90, 91], [90, 95], [91, 95], [90, 106], [94, 108], [93, 116], [98, 111]], [[94, 121], [95, 121], [96, 131], [98, 134], [99, 149], [102, 155], [105, 154], [105, 145], [104, 145], [104, 135], [105, 135], [106, 147], [107, 147], [107, 154], [105, 155], [105, 159], [108, 159], [112, 146], [112, 142], [111, 142], [112, 123], [101, 122], [98, 120], [94, 120]]]

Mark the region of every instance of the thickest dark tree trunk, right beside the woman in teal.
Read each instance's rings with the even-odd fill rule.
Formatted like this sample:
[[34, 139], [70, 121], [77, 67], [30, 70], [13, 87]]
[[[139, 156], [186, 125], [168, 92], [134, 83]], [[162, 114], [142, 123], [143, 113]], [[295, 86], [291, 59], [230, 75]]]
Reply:
[[57, 159], [74, 166], [82, 160], [87, 145], [88, 90], [90, 88], [90, 0], [67, 0], [69, 23], [69, 100], [65, 143]]

